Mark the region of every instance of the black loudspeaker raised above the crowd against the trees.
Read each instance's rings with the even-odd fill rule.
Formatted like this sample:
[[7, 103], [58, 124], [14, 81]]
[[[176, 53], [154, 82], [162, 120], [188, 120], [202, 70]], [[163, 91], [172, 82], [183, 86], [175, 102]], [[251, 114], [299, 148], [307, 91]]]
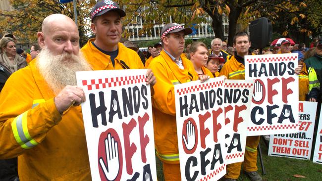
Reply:
[[249, 32], [252, 48], [265, 48], [269, 46], [273, 28], [267, 18], [259, 18], [251, 22]]

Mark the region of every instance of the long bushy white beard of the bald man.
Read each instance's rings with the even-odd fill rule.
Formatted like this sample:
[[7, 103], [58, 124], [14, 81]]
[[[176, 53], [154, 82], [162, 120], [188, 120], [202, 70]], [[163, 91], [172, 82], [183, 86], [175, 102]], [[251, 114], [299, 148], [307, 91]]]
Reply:
[[81, 52], [54, 55], [47, 47], [38, 54], [37, 67], [49, 87], [57, 95], [65, 86], [76, 86], [76, 71], [92, 70]]

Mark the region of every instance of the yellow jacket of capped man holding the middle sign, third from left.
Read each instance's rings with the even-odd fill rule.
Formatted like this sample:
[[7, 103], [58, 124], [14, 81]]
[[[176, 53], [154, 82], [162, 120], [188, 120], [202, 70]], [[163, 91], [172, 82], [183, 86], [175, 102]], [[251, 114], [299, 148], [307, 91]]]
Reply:
[[184, 70], [164, 50], [149, 65], [157, 79], [152, 97], [156, 152], [163, 162], [173, 164], [179, 163], [174, 85], [198, 80], [190, 60], [180, 57]]

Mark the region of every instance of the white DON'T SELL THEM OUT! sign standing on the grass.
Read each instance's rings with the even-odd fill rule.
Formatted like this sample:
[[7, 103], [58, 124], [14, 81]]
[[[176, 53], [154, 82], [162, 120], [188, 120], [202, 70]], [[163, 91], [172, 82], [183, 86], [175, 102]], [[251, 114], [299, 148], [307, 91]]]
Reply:
[[299, 102], [299, 132], [271, 135], [268, 155], [310, 159], [317, 105], [317, 102]]

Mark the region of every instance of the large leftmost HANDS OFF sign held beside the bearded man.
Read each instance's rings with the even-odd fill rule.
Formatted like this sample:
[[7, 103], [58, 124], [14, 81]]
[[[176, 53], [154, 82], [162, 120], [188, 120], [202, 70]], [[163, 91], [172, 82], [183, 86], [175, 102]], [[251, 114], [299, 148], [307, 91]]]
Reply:
[[93, 181], [157, 181], [146, 71], [76, 73]]

